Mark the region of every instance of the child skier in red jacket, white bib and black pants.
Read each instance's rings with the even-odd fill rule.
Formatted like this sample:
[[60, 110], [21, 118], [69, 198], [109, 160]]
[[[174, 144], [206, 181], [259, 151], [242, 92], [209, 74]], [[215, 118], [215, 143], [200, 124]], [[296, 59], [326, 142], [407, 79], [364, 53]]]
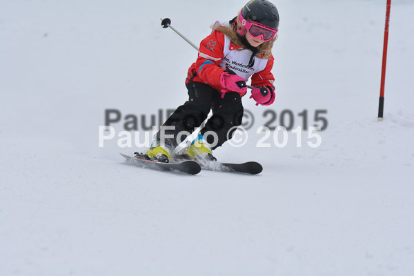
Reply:
[[[189, 159], [215, 160], [212, 150], [231, 139], [235, 127], [242, 124], [242, 97], [251, 77], [250, 98], [256, 105], [275, 101], [273, 55], [277, 39], [279, 13], [267, 0], [253, 0], [237, 17], [217, 21], [213, 32], [200, 43], [197, 61], [188, 69], [186, 88], [189, 99], [167, 119], [146, 152], [154, 161], [168, 162], [172, 150], [186, 135], [208, 119], [197, 139], [186, 148]], [[186, 133], [181, 135], [180, 133]], [[177, 141], [179, 136], [179, 141]], [[204, 139], [205, 137], [205, 139]]]

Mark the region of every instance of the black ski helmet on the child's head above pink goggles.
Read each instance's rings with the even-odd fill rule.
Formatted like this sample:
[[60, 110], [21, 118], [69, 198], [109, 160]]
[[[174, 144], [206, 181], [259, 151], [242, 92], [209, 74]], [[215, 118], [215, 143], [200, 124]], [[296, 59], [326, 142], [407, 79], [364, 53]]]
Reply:
[[267, 0], [252, 0], [242, 9], [242, 16], [248, 21], [254, 21], [277, 30], [279, 28], [279, 12], [273, 3]]

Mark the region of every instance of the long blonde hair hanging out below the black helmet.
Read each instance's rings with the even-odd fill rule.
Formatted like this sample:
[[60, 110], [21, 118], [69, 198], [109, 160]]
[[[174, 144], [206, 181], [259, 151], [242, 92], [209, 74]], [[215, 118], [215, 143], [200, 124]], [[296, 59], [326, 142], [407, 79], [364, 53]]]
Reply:
[[[237, 15], [237, 18], [236, 18], [235, 22], [236, 22], [237, 26], [242, 26], [242, 23], [240, 23], [240, 20], [239, 20], [239, 15]], [[240, 40], [239, 37], [237, 37], [237, 32], [233, 28], [233, 26], [231, 26], [231, 25], [230, 26], [224, 26], [224, 25], [221, 25], [221, 24], [213, 24], [212, 26], [210, 26], [210, 28], [212, 28], [213, 30], [217, 30], [219, 32], [222, 32], [224, 35], [226, 35], [228, 38], [230, 38], [230, 41], [233, 44], [236, 44], [237, 46], [243, 47], [243, 48], [237, 49], [237, 50], [244, 50], [246, 48], [246, 46], [244, 46], [244, 44], [242, 43], [242, 40]], [[238, 27], [238, 28], [244, 28], [244, 27]], [[244, 30], [243, 37], [246, 36], [246, 32], [247, 32], [247, 30]], [[275, 35], [275, 37], [273, 37], [273, 39], [271, 39], [269, 41], [265, 41], [264, 43], [257, 46], [257, 50], [259, 52], [257, 52], [256, 57], [258, 57], [259, 59], [268, 59], [272, 55], [273, 43], [275, 43], [276, 39], [277, 39], [277, 34]]]

